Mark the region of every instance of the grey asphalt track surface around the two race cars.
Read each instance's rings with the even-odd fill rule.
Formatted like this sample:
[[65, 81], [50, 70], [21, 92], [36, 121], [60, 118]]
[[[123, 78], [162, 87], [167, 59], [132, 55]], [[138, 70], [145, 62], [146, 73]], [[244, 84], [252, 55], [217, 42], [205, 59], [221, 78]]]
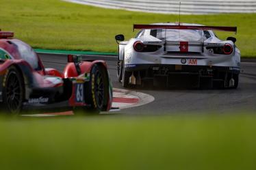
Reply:
[[[46, 68], [62, 71], [66, 65], [66, 55], [39, 54]], [[103, 59], [107, 61], [110, 79], [116, 88], [122, 89], [116, 79], [116, 57], [84, 56], [84, 59]], [[256, 113], [256, 62], [243, 59], [238, 89], [142, 89], [155, 100], [140, 107], [122, 109], [122, 114], [173, 114], [173, 113]]]

